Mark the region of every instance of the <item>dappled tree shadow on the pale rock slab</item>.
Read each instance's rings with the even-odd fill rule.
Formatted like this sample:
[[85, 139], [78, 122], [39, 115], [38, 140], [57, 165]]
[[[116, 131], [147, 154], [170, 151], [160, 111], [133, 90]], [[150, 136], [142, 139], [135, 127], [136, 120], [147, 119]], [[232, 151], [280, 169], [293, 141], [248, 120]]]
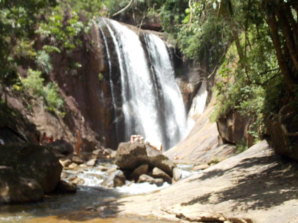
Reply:
[[[260, 167], [251, 170], [255, 165]], [[239, 205], [244, 205], [246, 209], [264, 210], [298, 198], [298, 163], [285, 158], [281, 159], [277, 155], [246, 158], [232, 168], [215, 169], [195, 180], [218, 178], [235, 170], [240, 172], [238, 178], [233, 178], [235, 186], [204, 194], [181, 205], [219, 204], [231, 201], [233, 210], [237, 209]], [[220, 181], [220, 178], [218, 180]], [[218, 199], [211, 200], [210, 197], [214, 195]]]

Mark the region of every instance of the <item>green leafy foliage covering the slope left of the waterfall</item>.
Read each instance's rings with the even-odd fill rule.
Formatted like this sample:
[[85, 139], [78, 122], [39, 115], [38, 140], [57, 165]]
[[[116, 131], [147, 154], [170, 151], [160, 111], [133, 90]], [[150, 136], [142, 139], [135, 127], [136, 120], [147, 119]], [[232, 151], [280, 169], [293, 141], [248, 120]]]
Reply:
[[[28, 77], [22, 79], [24, 87], [32, 96], [42, 96], [49, 109], [61, 108], [63, 101], [57, 84], [47, 83], [44, 87], [44, 78], [49, 79], [52, 56], [57, 53], [69, 56], [82, 44], [81, 35], [89, 31], [92, 15], [87, 13], [88, 19], [82, 20], [78, 12], [95, 14], [98, 6], [102, 7], [102, 1], [0, 1], [0, 97], [6, 87], [21, 89], [17, 84], [17, 66], [26, 60], [35, 70], [29, 69]], [[35, 34], [40, 36], [42, 49], [35, 46]], [[75, 64], [72, 69], [81, 67], [77, 62], [72, 64]]]

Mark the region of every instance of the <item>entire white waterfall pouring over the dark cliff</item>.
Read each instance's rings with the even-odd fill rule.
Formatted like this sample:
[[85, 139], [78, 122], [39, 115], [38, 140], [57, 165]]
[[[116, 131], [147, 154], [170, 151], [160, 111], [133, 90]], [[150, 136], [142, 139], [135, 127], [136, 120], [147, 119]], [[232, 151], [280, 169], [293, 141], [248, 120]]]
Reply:
[[167, 46], [156, 35], [144, 32], [142, 44], [127, 26], [103, 20], [119, 63], [124, 116], [121, 134], [126, 141], [132, 134], [140, 134], [153, 143], [162, 142], [165, 150], [176, 145], [185, 136], [187, 118]]

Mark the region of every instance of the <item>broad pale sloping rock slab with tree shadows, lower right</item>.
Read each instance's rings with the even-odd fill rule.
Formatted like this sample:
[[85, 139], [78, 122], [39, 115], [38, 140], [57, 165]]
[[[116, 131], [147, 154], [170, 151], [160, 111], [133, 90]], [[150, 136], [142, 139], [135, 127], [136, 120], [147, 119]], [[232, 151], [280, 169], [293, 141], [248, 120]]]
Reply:
[[298, 163], [262, 141], [153, 194], [117, 200], [123, 214], [190, 222], [297, 223]]

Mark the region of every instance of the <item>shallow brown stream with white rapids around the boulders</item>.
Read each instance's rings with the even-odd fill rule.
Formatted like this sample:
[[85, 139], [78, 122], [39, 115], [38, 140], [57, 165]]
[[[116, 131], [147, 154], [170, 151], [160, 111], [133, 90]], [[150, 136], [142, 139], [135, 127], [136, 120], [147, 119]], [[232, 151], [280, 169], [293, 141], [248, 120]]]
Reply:
[[[121, 187], [107, 189], [101, 183], [108, 178], [109, 172], [116, 165], [100, 163], [95, 167], [83, 167], [73, 170], [63, 169], [61, 179], [70, 181], [81, 178], [75, 194], [46, 194], [42, 202], [24, 205], [1, 205], [0, 222], [156, 222], [157, 219], [124, 216], [117, 210], [120, 197], [135, 194], [147, 194], [170, 186], [164, 182], [162, 186], [149, 183], [132, 183], [126, 181]], [[192, 164], [178, 164], [181, 178], [192, 175]], [[111, 170], [111, 171], [109, 171]], [[158, 222], [170, 222], [159, 219]]]

